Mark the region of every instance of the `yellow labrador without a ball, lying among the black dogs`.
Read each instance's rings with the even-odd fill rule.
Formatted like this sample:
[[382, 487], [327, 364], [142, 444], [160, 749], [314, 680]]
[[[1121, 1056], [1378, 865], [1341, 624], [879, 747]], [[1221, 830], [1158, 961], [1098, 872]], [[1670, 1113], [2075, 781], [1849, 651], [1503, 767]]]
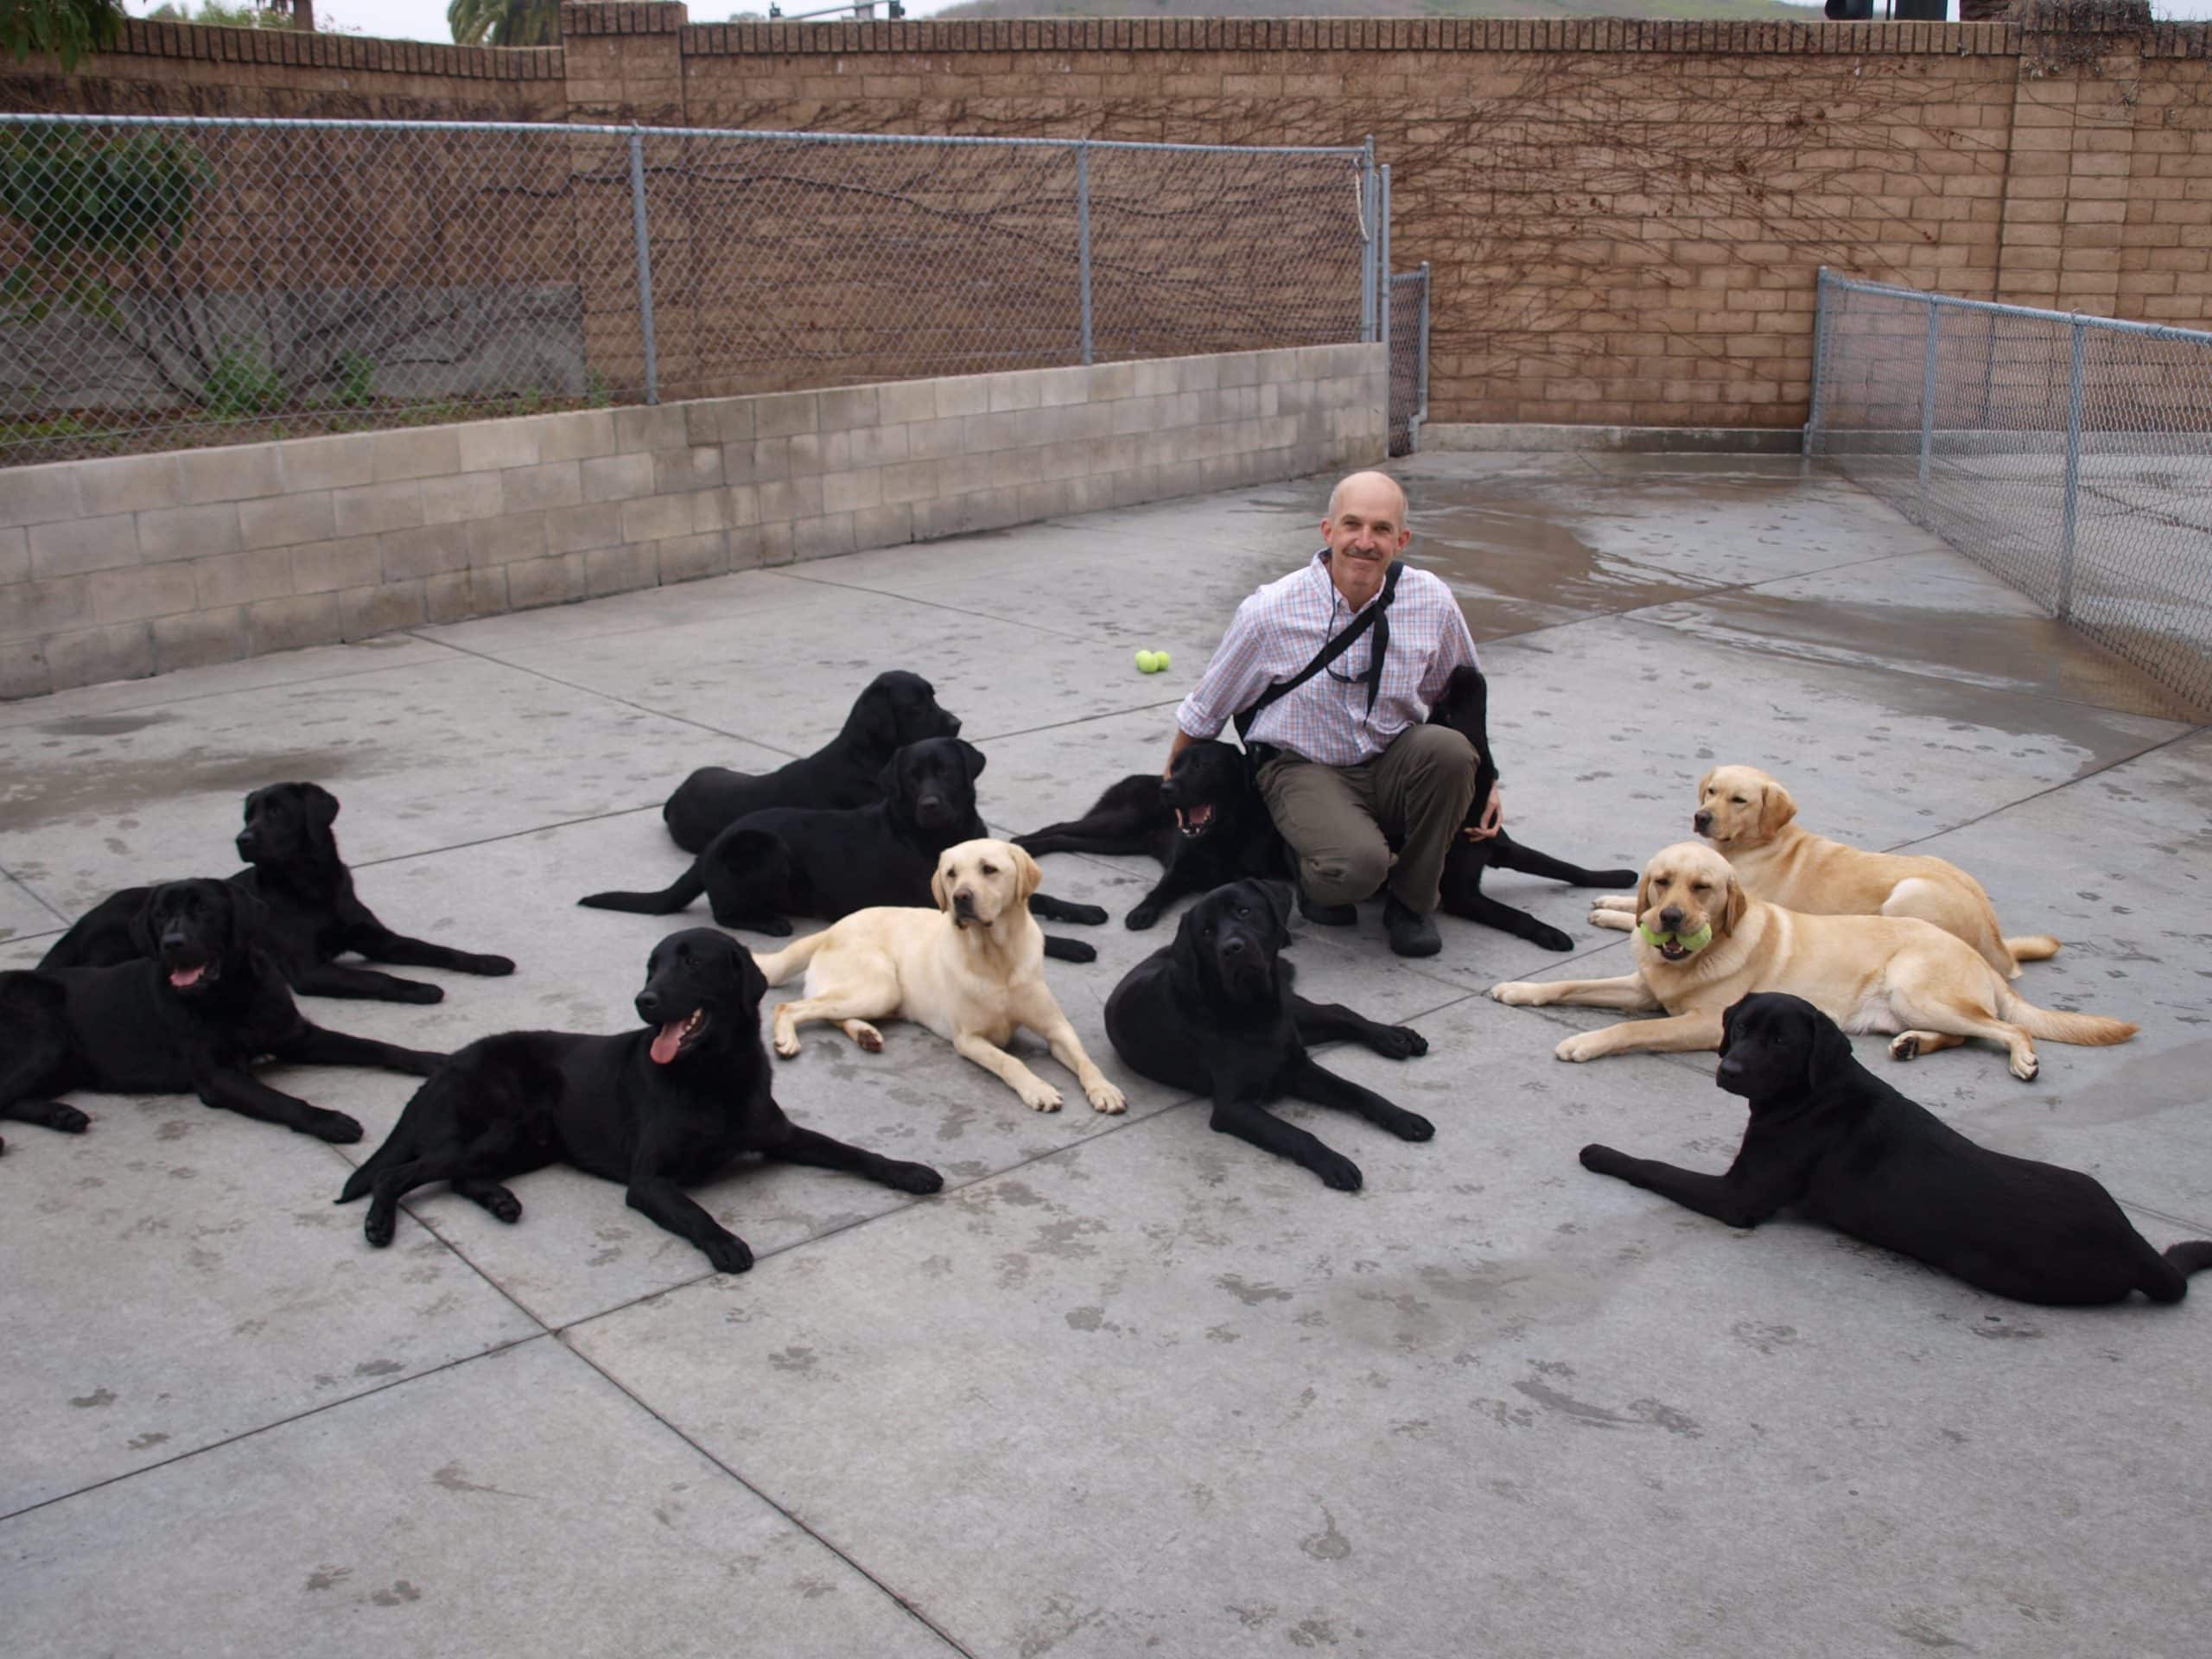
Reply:
[[869, 1020], [929, 1026], [1040, 1113], [1060, 1091], [1006, 1053], [1015, 1026], [1044, 1037], [1102, 1113], [1128, 1106], [1091, 1064], [1075, 1026], [1044, 984], [1044, 931], [1029, 914], [1037, 860], [1006, 841], [962, 841], [938, 854], [929, 878], [936, 909], [856, 909], [836, 927], [759, 958], [770, 984], [805, 969], [805, 995], [776, 1006], [779, 1055], [799, 1053], [799, 1026], [836, 1020], [867, 1051], [883, 1048]]

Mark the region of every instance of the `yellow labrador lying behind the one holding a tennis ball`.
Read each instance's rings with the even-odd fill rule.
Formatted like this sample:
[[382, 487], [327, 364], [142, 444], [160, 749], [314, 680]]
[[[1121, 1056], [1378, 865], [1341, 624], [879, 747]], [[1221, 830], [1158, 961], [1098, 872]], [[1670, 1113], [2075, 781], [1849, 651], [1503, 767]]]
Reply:
[[[1770, 905], [1805, 916], [1918, 916], [1966, 940], [2008, 980], [2022, 962], [2059, 953], [2048, 933], [2006, 938], [1982, 883], [1947, 858], [1863, 852], [1796, 823], [1790, 790], [1756, 765], [1717, 765], [1697, 781], [1697, 832], [1736, 867], [1736, 878]], [[1599, 898], [1590, 920], [1626, 933], [1641, 902]]]

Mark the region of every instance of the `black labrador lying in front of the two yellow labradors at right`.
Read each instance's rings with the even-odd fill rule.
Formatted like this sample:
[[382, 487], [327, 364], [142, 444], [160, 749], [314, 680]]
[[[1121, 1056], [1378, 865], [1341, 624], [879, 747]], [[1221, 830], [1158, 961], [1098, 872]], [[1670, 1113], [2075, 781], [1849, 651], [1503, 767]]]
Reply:
[[1717, 1082], [1752, 1102], [1728, 1175], [1584, 1146], [1582, 1164], [1732, 1228], [1785, 1203], [1838, 1232], [1964, 1279], [2059, 1307], [2188, 1294], [2212, 1241], [2154, 1250], [2095, 1179], [1975, 1146], [1851, 1055], [1809, 1002], [1772, 991], [1725, 1015]]

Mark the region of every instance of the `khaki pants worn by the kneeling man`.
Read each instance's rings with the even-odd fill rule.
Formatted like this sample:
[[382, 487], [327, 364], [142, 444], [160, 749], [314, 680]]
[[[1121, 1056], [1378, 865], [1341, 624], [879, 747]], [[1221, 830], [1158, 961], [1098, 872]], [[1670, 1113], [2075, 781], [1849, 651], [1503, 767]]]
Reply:
[[1365, 765], [1276, 754], [1259, 790], [1298, 856], [1307, 900], [1352, 905], [1389, 880], [1400, 905], [1427, 916], [1475, 794], [1475, 748], [1449, 726], [1409, 726]]

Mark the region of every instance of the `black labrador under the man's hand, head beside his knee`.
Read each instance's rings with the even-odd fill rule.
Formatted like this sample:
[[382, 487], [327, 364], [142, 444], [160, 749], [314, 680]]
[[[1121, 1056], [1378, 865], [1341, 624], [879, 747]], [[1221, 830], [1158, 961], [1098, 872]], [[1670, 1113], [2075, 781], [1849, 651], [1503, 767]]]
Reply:
[[1015, 836], [1013, 845], [1033, 858], [1048, 852], [1157, 858], [1159, 883], [1128, 914], [1135, 929], [1157, 922], [1186, 894], [1290, 874], [1283, 836], [1267, 816], [1243, 750], [1217, 741], [1188, 745], [1168, 765], [1168, 776], [1137, 772], [1121, 779], [1084, 816]]

